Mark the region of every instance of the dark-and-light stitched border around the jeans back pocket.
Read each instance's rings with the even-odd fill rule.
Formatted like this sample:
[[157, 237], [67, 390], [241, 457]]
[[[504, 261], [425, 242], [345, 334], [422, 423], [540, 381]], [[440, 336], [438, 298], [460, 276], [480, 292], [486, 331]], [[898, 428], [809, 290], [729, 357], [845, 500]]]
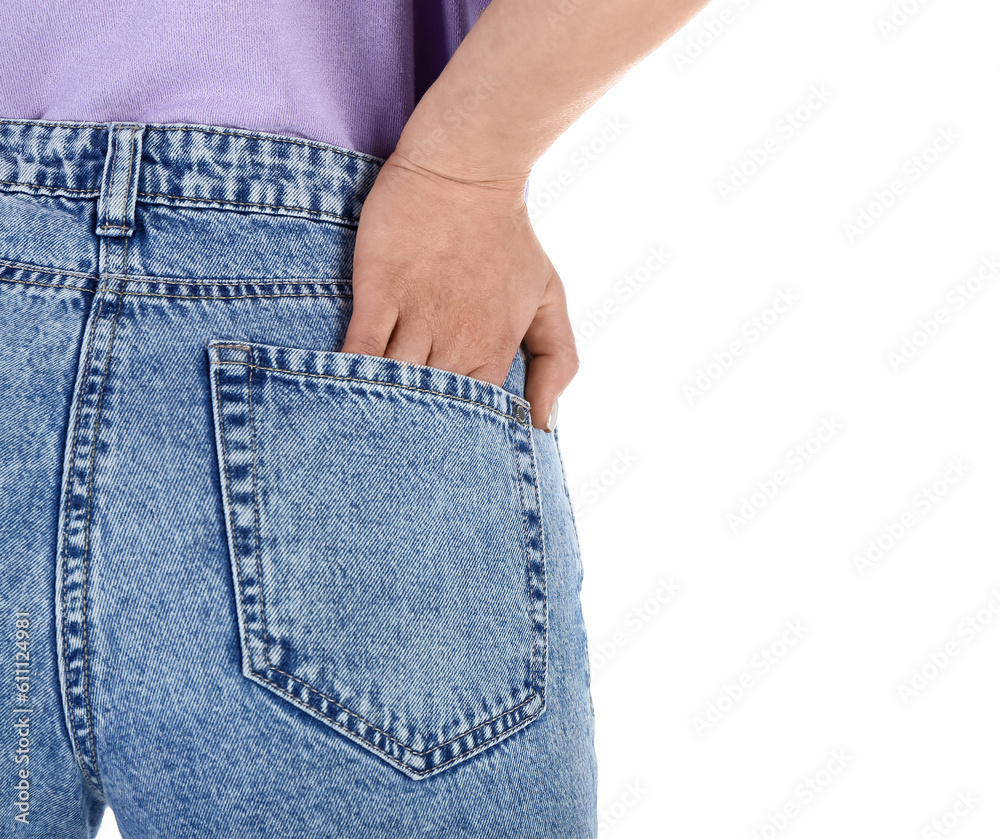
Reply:
[[[377, 750], [384, 759], [397, 765], [404, 772], [414, 777], [424, 777], [436, 773], [454, 762], [471, 757], [501, 737], [523, 728], [531, 720], [537, 718], [545, 709], [543, 690], [545, 684], [547, 609], [545, 604], [543, 564], [544, 548], [539, 517], [540, 497], [536, 480], [537, 466], [534, 461], [533, 452], [531, 452], [530, 425], [519, 419], [516, 416], [517, 412], [513, 410], [513, 406], [525, 403], [514, 394], [479, 382], [478, 380], [460, 377], [456, 374], [449, 374], [433, 368], [421, 368], [419, 365], [401, 365], [391, 360], [372, 360], [368, 357], [358, 356], [355, 356], [354, 360], [352, 360], [349, 354], [322, 353], [281, 347], [253, 347], [248, 344], [232, 342], [213, 342], [210, 349], [212, 350], [212, 366], [215, 368], [213, 371], [213, 382], [215, 385], [213, 402], [220, 438], [219, 456], [222, 461], [224, 492], [230, 516], [229, 530], [232, 538], [232, 549], [234, 551], [233, 561], [237, 569], [237, 596], [240, 602], [241, 614], [244, 616], [241, 623], [243, 624], [244, 633], [243, 643], [248, 656], [245, 659], [245, 663], [250, 672], [260, 681], [272, 686], [272, 689], [275, 689], [279, 694], [288, 697], [293, 703], [301, 705], [306, 710], [309, 710], [310, 713], [328, 720], [330, 724], [344, 732], [351, 739], [356, 739], [368, 748]], [[232, 357], [226, 358], [221, 352], [223, 350], [236, 351], [238, 354], [242, 354], [245, 360], [237, 360]], [[258, 358], [258, 354], [262, 355], [263, 358]], [[365, 375], [370, 377], [331, 374], [328, 372], [328, 365], [334, 363], [334, 356], [337, 357], [336, 363], [341, 368], [345, 365], [357, 364], [360, 365], [359, 369], [364, 370]], [[298, 367], [304, 365], [312, 369], [288, 369], [274, 366], [275, 362], [282, 357], [294, 361]], [[382, 377], [373, 375], [376, 370], [373, 365], [376, 364], [380, 365], [377, 367], [378, 372], [381, 372], [389, 380], [380, 380]], [[365, 365], [368, 365], [368, 367]], [[222, 372], [225, 367], [246, 368], [246, 377], [242, 378], [242, 385], [236, 384], [237, 381], [240, 381], [238, 378], [230, 378], [228, 382], [223, 382]], [[254, 389], [255, 370], [269, 375], [325, 380], [331, 384], [335, 382], [357, 384], [363, 386], [366, 390], [383, 390], [406, 396], [407, 401], [415, 399], [417, 396], [430, 395], [432, 398], [457, 401], [473, 408], [477, 413], [485, 410], [487, 416], [492, 414], [503, 418], [503, 421], [497, 419], [493, 421], [498, 423], [498, 430], [505, 429], [501, 432], [508, 439], [508, 444], [504, 448], [507, 449], [509, 456], [512, 458], [511, 465], [514, 468], [514, 484], [517, 487], [517, 497], [520, 499], [519, 515], [523, 535], [519, 541], [521, 542], [520, 551], [524, 557], [523, 567], [526, 574], [526, 593], [529, 600], [528, 626], [531, 627], [532, 634], [529, 665], [530, 684], [526, 698], [514, 706], [497, 709], [498, 713], [495, 713], [494, 716], [478, 722], [473, 727], [461, 731], [446, 741], [438, 742], [430, 745], [428, 748], [421, 749], [402, 741], [399, 737], [390, 734], [356, 710], [348, 708], [335, 697], [299, 676], [289, 673], [286, 669], [277, 667], [273, 663], [269, 649], [270, 637], [266, 623], [267, 606], [263, 589], [264, 572], [261, 561], [260, 501], [259, 489], [257, 487], [259, 455], [258, 443], [256, 442], [257, 431], [256, 419], [253, 413], [254, 400], [252, 392]], [[324, 370], [327, 372], [321, 372]], [[419, 387], [407, 383], [407, 380], [420, 381], [421, 376], [429, 376], [433, 381], [438, 383], [438, 387]], [[447, 380], [447, 384], [443, 384], [445, 380]], [[490, 401], [493, 404], [484, 404], [482, 401], [466, 398], [460, 393], [448, 392], [453, 387], [458, 387], [459, 389], [468, 387], [473, 391], [479, 390], [482, 395], [489, 394], [491, 397]], [[497, 400], [501, 400], [506, 404], [506, 410], [501, 410], [498, 407], [500, 403]], [[242, 410], [238, 406], [242, 406]], [[236, 412], [234, 413], [234, 411]], [[240, 413], [245, 414], [242, 419], [239, 418]], [[244, 444], [236, 444], [236, 448], [232, 448], [226, 436], [227, 425], [230, 422], [236, 422], [238, 424], [237, 427], [239, 425], [243, 427], [249, 426], [251, 438], [249, 452], [245, 452]], [[239, 453], [239, 460], [237, 462], [239, 472], [244, 476], [240, 479], [234, 477], [230, 463], [231, 458], [237, 456], [237, 452]], [[249, 462], [247, 462], [248, 458]], [[248, 478], [249, 486], [246, 485]], [[240, 486], [234, 487], [234, 484], [240, 484]], [[529, 488], [533, 493], [533, 504], [530, 511], [524, 495], [525, 489]], [[234, 492], [238, 492], [242, 498], [252, 500], [237, 502]], [[248, 503], [252, 505], [252, 510], [250, 511], [246, 508]], [[238, 537], [236, 535], [240, 530], [240, 526], [237, 524], [234, 516], [239, 506], [242, 506], [246, 511], [244, 515], [252, 512], [252, 535], [250, 536], [252, 542], [249, 544], [246, 543], [246, 537]], [[246, 519], [244, 519], [245, 521]], [[248, 551], [246, 550], [247, 548], [249, 548]], [[252, 556], [248, 556], [248, 553], [252, 554]], [[243, 590], [244, 574], [239, 570], [242, 567], [244, 559], [256, 561], [257, 580], [251, 581], [255, 589], [252, 604], [247, 600], [246, 593]], [[257, 613], [256, 616], [254, 615], [255, 612]], [[253, 644], [247, 635], [250, 631], [251, 622], [257, 624], [257, 628], [254, 631], [258, 634], [262, 632], [263, 635], [261, 639], [263, 661], [258, 666], [254, 666]], [[276, 681], [274, 678], [274, 674], [276, 673], [280, 673], [287, 679], [302, 685], [306, 691], [305, 696], [292, 693], [286, 685], [282, 685]], [[337, 707], [343, 714], [362, 723], [364, 728], [359, 731], [356, 730], [357, 726], [346, 726], [343, 719], [338, 719], [327, 713], [324, 705], [321, 703], [317, 704], [317, 701], [309, 701], [309, 698], [313, 696]], [[528, 713], [524, 715], [518, 713], [528, 706], [533, 706]], [[478, 742], [470, 739], [475, 732], [487, 726], [496, 726], [501, 720], [504, 721], [503, 725], [492, 732], [491, 736], [487, 739]], [[371, 732], [377, 732], [385, 740], [396, 744], [398, 753], [393, 754], [387, 750], [384, 743], [380, 744], [376, 738], [372, 737]], [[457, 753], [448, 754], [441, 752], [445, 747], [463, 740], [465, 741], [464, 746]]]

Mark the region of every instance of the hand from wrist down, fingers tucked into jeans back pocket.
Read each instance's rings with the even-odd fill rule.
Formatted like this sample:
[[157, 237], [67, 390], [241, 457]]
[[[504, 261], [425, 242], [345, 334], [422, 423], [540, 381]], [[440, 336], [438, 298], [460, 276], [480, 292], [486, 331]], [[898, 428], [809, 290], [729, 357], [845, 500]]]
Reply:
[[523, 180], [463, 180], [393, 153], [362, 207], [353, 286], [343, 352], [502, 385], [523, 341], [532, 424], [551, 431], [578, 361]]

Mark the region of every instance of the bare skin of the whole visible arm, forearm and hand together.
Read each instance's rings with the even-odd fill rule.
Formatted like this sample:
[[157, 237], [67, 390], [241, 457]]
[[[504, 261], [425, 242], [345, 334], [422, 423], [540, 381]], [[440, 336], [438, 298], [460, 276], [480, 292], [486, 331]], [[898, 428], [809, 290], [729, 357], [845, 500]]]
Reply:
[[361, 212], [343, 352], [502, 385], [523, 342], [532, 423], [579, 362], [525, 204], [532, 166], [707, 0], [492, 0], [421, 98]]

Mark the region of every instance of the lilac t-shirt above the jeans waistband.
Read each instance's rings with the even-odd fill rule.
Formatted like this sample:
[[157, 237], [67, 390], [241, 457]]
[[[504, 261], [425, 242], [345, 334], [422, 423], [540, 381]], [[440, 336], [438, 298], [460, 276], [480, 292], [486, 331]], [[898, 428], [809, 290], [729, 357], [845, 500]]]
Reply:
[[489, 0], [2, 0], [0, 117], [186, 122], [387, 157]]

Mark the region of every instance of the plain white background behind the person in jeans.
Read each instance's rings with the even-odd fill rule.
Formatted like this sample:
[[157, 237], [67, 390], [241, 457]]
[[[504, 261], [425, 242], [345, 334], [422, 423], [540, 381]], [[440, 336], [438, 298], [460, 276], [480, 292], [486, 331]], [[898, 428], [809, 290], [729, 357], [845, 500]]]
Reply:
[[998, 31], [715, 0], [535, 170], [602, 836], [1000, 832]]

